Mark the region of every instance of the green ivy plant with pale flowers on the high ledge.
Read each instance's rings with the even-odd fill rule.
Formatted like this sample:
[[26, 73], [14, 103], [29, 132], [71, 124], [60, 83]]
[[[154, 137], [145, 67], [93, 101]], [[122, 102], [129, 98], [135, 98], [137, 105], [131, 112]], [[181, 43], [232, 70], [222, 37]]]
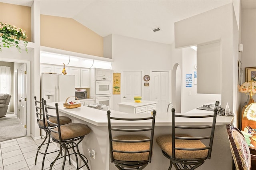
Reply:
[[0, 42], [0, 51], [2, 51], [2, 47], [10, 48], [12, 46], [15, 46], [20, 52], [21, 48], [19, 47], [19, 42], [20, 40], [23, 40], [25, 51], [28, 52], [28, 42], [25, 41], [25, 39], [27, 38], [25, 34], [26, 31], [6, 23], [0, 22], [0, 24], [0, 37], [2, 38], [2, 41]]

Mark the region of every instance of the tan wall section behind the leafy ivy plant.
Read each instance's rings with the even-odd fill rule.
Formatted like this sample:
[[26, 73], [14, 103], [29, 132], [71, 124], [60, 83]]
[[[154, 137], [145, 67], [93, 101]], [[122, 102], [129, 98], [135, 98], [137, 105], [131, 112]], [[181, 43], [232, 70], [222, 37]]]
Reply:
[[31, 7], [0, 2], [0, 22], [25, 30], [31, 42]]

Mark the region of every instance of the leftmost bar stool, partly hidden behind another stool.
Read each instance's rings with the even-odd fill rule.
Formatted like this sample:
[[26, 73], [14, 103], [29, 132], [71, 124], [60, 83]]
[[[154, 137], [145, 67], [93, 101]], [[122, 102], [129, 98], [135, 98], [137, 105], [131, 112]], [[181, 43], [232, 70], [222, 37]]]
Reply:
[[[44, 105], [43, 105], [44, 99], [42, 98], [42, 101], [37, 101], [36, 96], [34, 97], [34, 99], [35, 99], [35, 107], [36, 107], [36, 120], [37, 120], [38, 126], [39, 126], [40, 129], [42, 129], [46, 132], [46, 135], [45, 135], [45, 138], [44, 138], [43, 142], [37, 148], [36, 159], [35, 159], [35, 165], [36, 165], [38, 153], [44, 155], [43, 160], [42, 160], [42, 170], [43, 170], [44, 169], [44, 160], [45, 160], [46, 154], [57, 152], [58, 150], [54, 150], [52, 152], [47, 152], [49, 144], [51, 143], [51, 138], [50, 138], [50, 135], [49, 135], [50, 132], [48, 130], [48, 124], [47, 124], [47, 120], [46, 120], [45, 113], [44, 113]], [[51, 121], [54, 122], [54, 123], [57, 123], [56, 118], [52, 118]], [[60, 124], [61, 125], [65, 125], [65, 124], [68, 124], [70, 122], [71, 122], [71, 120], [68, 117], [66, 117], [66, 116], [61, 116], [60, 117]], [[56, 125], [50, 125], [50, 126], [51, 127], [56, 127]], [[47, 138], [48, 138], [48, 140], [46, 142]], [[44, 152], [41, 152], [40, 149], [44, 145], [46, 145], [46, 148], [45, 148]]]

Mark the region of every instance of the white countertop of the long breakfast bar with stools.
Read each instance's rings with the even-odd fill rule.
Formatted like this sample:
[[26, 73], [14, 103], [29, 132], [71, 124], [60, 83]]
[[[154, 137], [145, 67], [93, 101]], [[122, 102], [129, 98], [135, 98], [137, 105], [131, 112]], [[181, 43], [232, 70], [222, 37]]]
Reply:
[[[91, 123], [96, 126], [108, 126], [108, 120], [107, 120], [107, 113], [106, 111], [98, 110], [98, 109], [93, 109], [90, 107], [82, 106], [74, 109], [67, 109], [63, 107], [64, 102], [58, 102], [59, 104], [59, 111], [62, 113], [65, 113], [67, 115], [70, 115], [72, 117], [75, 117], [77, 119], [80, 119], [82, 121], [86, 121], [88, 123]], [[47, 103], [47, 105], [55, 107], [55, 102], [54, 103]], [[120, 111], [114, 111], [110, 110], [112, 117], [123, 117], [123, 118], [138, 118], [138, 117], [145, 117], [145, 115], [150, 116], [150, 114], [132, 114], [132, 113], [123, 113]], [[204, 110], [198, 110], [198, 109], [193, 109], [187, 113], [184, 114], [192, 114], [192, 115], [198, 115], [198, 114], [207, 114], [207, 113], [212, 113], [212, 111], [204, 111]], [[219, 116], [217, 115], [217, 120], [216, 120], [216, 125], [226, 125], [230, 123], [231, 119], [233, 117], [225, 117], [225, 116]], [[177, 117], [176, 123], [182, 125], [205, 125], [207, 122], [211, 122], [210, 118], [203, 118], [203, 119], [184, 119]], [[117, 120], [113, 120], [113, 125], [115, 126], [147, 126], [149, 125], [149, 122], [140, 122], [134, 123], [127, 121], [127, 123], [124, 123], [124, 121], [120, 122]], [[136, 121], [137, 122], [137, 121]], [[172, 125], [172, 114], [166, 114], [166, 113], [156, 113], [156, 121], [155, 121], [155, 126], [171, 126]]]

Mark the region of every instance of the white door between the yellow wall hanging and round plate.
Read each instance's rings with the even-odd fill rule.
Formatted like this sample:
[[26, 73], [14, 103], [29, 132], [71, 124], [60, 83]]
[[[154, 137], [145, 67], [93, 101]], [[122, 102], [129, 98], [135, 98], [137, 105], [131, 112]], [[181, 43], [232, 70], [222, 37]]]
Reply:
[[121, 102], [134, 101], [134, 96], [142, 96], [142, 71], [123, 71], [121, 86]]

